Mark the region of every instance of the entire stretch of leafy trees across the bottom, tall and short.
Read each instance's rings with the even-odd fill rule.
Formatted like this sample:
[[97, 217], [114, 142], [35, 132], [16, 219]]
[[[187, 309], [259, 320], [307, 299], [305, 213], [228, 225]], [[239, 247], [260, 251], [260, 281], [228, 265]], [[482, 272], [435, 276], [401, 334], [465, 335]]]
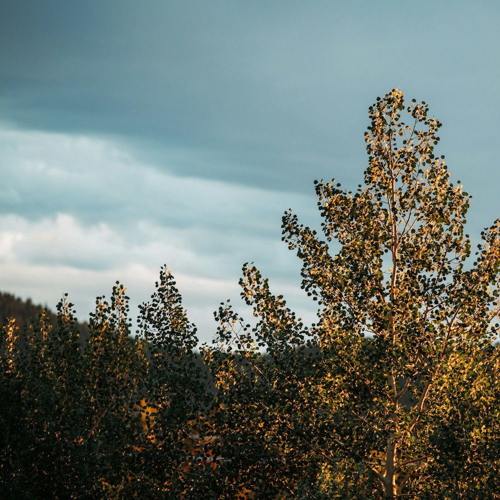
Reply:
[[368, 114], [363, 184], [314, 181], [321, 236], [282, 219], [315, 323], [252, 263], [256, 324], [221, 303], [201, 346], [166, 265], [137, 331], [118, 282], [88, 325], [5, 312], [1, 498], [500, 498], [500, 220], [472, 252], [425, 102]]

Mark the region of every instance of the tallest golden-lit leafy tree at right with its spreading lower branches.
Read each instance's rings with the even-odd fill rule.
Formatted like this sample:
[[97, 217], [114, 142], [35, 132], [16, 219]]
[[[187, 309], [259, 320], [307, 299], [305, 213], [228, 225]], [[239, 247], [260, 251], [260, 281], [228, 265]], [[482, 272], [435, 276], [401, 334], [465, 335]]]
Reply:
[[241, 284], [257, 326], [219, 309], [204, 354], [226, 408], [221, 473], [262, 494], [498, 497], [500, 222], [466, 267], [469, 196], [434, 152], [441, 122], [398, 89], [369, 117], [364, 186], [315, 182], [326, 241], [283, 217], [317, 324], [253, 266]]

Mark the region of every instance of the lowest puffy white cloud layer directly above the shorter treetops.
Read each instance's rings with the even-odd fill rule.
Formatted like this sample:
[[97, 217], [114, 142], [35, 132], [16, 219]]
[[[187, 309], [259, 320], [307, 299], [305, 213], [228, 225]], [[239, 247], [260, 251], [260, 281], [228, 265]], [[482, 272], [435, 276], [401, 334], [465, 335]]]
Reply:
[[[196, 253], [188, 247], [188, 241], [168, 242], [154, 236], [128, 248], [119, 231], [106, 224], [85, 227], [67, 214], [37, 221], [1, 216], [0, 228], [3, 289], [31, 297], [51, 309], [63, 293], [68, 293], [78, 317], [87, 318], [94, 298], [102, 294], [109, 297], [112, 285], [119, 280], [127, 286], [131, 317], [135, 317], [136, 306], [147, 301], [154, 291], [163, 259], [173, 271], [201, 341], [212, 337], [212, 312], [226, 298], [231, 298], [247, 318], [251, 316], [239, 300], [238, 275], [234, 272], [239, 266], [236, 252], [210, 256]], [[234, 264], [230, 269], [233, 272], [227, 269], [228, 259]], [[304, 297], [297, 283], [278, 278], [274, 285], [279, 293], [289, 296], [292, 304], [299, 305], [303, 317], [312, 320], [314, 308], [312, 304], [309, 308], [300, 305]]]

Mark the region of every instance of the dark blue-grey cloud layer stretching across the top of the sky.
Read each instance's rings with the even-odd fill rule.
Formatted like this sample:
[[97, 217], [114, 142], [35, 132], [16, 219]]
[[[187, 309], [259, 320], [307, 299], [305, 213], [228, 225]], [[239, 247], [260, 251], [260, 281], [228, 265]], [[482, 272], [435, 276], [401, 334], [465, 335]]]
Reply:
[[429, 3], [427, 37], [413, 21], [421, 3], [361, 4], [3, 2], [2, 113], [25, 128], [124, 138], [179, 176], [304, 193], [332, 170], [353, 181], [366, 108], [393, 86], [447, 103], [451, 120], [458, 95], [486, 91], [474, 106], [494, 107], [495, 15]]

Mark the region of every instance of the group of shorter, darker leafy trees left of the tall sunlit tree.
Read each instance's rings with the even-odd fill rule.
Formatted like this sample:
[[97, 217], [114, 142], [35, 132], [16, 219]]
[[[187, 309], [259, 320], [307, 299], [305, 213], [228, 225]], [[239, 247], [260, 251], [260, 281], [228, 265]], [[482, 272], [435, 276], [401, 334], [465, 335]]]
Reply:
[[55, 324], [45, 310], [31, 322], [22, 349], [5, 322], [0, 497], [206, 497], [208, 375], [166, 269], [156, 287], [134, 339], [125, 288], [97, 297], [83, 351], [65, 298]]

